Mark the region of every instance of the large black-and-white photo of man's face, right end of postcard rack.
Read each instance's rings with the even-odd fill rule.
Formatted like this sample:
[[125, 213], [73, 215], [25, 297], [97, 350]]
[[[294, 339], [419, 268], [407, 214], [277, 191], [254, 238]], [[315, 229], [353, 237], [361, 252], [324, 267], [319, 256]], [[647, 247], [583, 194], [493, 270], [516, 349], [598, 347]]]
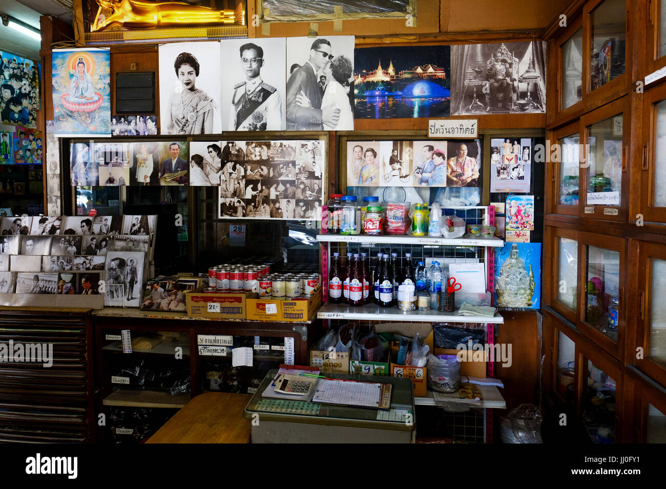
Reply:
[[109, 251], [105, 268], [105, 300], [108, 306], [139, 307], [143, 289], [145, 253]]

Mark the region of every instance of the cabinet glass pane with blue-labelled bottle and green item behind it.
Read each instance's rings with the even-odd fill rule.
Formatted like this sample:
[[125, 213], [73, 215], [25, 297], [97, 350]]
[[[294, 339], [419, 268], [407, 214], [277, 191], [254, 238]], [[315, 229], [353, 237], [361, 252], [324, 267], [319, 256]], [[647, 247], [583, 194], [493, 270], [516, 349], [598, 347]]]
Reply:
[[620, 253], [587, 247], [585, 321], [617, 341]]

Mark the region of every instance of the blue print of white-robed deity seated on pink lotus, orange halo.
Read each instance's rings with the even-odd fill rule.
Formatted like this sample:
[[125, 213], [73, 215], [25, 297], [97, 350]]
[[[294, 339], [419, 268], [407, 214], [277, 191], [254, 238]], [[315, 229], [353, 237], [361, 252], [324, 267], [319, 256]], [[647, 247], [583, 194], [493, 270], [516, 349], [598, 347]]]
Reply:
[[110, 72], [108, 49], [53, 50], [55, 134], [111, 134]]

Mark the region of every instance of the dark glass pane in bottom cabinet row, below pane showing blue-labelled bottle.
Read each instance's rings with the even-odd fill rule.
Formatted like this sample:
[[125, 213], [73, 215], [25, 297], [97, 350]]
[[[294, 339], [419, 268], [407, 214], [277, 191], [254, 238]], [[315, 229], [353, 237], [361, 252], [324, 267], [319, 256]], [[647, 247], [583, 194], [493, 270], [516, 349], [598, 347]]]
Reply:
[[582, 420], [594, 443], [615, 441], [615, 380], [589, 360]]

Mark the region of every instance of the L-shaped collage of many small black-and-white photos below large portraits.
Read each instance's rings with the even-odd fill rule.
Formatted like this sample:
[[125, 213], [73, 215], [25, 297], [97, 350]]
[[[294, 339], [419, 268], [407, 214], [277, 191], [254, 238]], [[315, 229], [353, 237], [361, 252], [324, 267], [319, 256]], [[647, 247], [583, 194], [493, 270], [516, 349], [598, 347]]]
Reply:
[[320, 140], [192, 142], [190, 184], [219, 187], [220, 218], [312, 219], [324, 152]]

